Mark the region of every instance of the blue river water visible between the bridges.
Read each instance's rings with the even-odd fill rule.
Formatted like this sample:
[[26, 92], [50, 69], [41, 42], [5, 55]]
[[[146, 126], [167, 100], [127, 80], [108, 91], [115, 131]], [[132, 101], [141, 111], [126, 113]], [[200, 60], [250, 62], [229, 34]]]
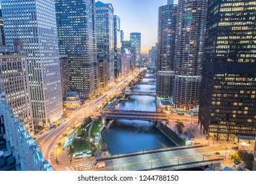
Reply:
[[[152, 76], [152, 74], [147, 74]], [[155, 81], [145, 78], [143, 82]], [[155, 85], [138, 85], [130, 91], [154, 92]], [[156, 111], [155, 97], [132, 95], [128, 100], [122, 100], [115, 107], [117, 110]], [[157, 127], [155, 122], [141, 120], [116, 120], [109, 128], [101, 133], [103, 142], [109, 146], [110, 154], [138, 152], [142, 150], [174, 147]]]

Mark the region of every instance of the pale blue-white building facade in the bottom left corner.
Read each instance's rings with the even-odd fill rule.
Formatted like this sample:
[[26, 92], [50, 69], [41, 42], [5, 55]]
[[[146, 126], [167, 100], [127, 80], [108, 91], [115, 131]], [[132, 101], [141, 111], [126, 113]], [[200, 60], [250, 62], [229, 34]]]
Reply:
[[0, 139], [0, 151], [3, 151], [0, 156], [0, 170], [52, 171], [52, 166], [43, 158], [40, 145], [24, 129], [23, 122], [13, 113], [7, 98], [0, 91], [0, 116], [3, 116], [5, 124], [5, 135]]

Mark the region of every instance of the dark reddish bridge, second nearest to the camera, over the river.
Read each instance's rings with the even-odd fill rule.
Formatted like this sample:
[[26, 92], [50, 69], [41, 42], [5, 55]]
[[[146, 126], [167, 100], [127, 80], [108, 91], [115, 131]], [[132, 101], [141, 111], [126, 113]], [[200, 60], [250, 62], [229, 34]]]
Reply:
[[168, 117], [164, 112], [136, 110], [103, 110], [102, 112], [105, 112], [107, 120], [168, 121]]

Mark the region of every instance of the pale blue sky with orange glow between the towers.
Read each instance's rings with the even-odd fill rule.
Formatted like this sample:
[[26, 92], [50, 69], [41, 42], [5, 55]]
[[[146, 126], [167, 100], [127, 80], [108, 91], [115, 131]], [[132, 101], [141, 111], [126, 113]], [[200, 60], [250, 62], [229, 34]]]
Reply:
[[[121, 19], [124, 40], [130, 40], [131, 32], [140, 32], [141, 53], [148, 53], [157, 42], [158, 8], [166, 5], [167, 0], [101, 0], [101, 2], [113, 5], [114, 14]], [[174, 3], [178, 3], [178, 0], [174, 0]]]

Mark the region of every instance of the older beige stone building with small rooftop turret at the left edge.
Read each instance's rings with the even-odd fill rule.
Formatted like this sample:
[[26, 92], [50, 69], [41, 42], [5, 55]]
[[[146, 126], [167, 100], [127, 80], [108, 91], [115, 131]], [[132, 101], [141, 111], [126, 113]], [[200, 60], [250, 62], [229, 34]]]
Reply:
[[[20, 48], [19, 48], [20, 47]], [[28, 63], [20, 39], [14, 41], [14, 52], [0, 52], [0, 89], [6, 93], [7, 103], [23, 122], [24, 129], [34, 134]]]

